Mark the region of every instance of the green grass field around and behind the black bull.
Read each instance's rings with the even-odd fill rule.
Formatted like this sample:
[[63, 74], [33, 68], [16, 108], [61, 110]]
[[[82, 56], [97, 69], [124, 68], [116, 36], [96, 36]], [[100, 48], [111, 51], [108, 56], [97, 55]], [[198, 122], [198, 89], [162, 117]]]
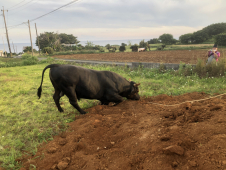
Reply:
[[[19, 169], [16, 158], [22, 154], [34, 154], [43, 141], [52, 140], [75, 120], [78, 112], [62, 97], [64, 113], [59, 113], [52, 99], [54, 88], [45, 73], [43, 93], [38, 99], [36, 93], [41, 82], [41, 73], [47, 64], [0, 68], [0, 166]], [[125, 78], [141, 83], [141, 96], [159, 94], [180, 95], [187, 92], [223, 93], [225, 78], [203, 78], [193, 75], [176, 76], [174, 71], [159, 73], [158, 70], [138, 68], [130, 70], [122, 67], [89, 66], [96, 70], [114, 71]], [[82, 108], [97, 105], [95, 100], [81, 100]]]

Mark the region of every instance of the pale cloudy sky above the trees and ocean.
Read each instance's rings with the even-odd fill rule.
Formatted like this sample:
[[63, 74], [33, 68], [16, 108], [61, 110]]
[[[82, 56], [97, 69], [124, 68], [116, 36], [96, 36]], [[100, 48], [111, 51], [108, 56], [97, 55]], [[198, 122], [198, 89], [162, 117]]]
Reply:
[[[4, 6], [9, 39], [30, 42], [27, 24], [72, 0], [0, 0]], [[79, 41], [158, 38], [170, 33], [193, 33], [213, 23], [225, 22], [226, 0], [78, 0], [30, 23], [33, 41], [38, 33], [73, 34]], [[0, 11], [2, 14], [2, 11]], [[3, 16], [0, 36], [6, 42]], [[0, 41], [1, 42], [1, 41]]]

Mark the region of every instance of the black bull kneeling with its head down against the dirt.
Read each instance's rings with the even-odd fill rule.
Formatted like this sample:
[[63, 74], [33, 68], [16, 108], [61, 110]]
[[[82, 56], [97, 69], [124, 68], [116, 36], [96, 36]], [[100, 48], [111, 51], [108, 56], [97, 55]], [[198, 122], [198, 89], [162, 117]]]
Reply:
[[50, 68], [49, 77], [55, 88], [53, 99], [60, 112], [60, 98], [65, 94], [81, 114], [82, 110], [77, 99], [97, 99], [101, 104], [107, 105], [110, 102], [116, 104], [123, 101], [123, 97], [132, 100], [139, 100], [138, 86], [133, 81], [127, 81], [124, 77], [110, 71], [96, 71], [72, 65], [51, 64], [44, 68], [42, 72], [41, 85], [38, 88], [38, 97], [41, 97], [42, 82], [45, 70]]

